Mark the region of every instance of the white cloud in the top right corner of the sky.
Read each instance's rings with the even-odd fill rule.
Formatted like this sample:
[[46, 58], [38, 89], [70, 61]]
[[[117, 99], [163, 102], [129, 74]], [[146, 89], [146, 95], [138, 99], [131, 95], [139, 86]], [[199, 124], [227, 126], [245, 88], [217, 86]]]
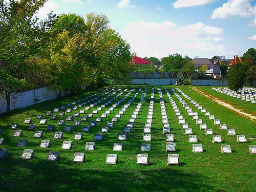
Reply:
[[228, 0], [227, 3], [224, 3], [222, 5], [222, 7], [219, 7], [214, 10], [214, 12], [211, 15], [211, 18], [224, 19], [232, 16], [255, 16], [255, 20], [253, 21], [252, 24], [249, 25], [256, 25], [256, 4], [253, 6], [251, 2], [252, 0]]

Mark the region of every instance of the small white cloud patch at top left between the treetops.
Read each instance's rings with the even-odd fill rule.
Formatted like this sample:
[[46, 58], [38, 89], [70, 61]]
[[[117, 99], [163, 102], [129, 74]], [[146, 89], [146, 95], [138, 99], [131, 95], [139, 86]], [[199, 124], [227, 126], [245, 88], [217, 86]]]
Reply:
[[51, 11], [53, 11], [53, 13], [59, 14], [60, 5], [50, 0], [45, 3], [44, 7], [39, 9], [36, 16], [39, 19], [45, 19], [47, 14], [49, 14]]

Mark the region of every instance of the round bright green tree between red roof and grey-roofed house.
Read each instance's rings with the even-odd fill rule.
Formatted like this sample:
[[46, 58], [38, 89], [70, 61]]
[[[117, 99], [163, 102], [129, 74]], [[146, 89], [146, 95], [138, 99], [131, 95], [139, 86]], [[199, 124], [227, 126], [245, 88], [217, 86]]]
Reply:
[[174, 55], [163, 57], [161, 62], [163, 63], [164, 71], [181, 71], [186, 60], [182, 58], [182, 55], [176, 53]]

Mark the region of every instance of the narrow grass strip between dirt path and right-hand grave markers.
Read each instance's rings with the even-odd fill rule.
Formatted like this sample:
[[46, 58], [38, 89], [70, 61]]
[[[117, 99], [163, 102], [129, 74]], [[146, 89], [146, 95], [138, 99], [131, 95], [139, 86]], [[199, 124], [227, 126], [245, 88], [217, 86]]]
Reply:
[[[217, 98], [220, 98], [233, 106], [242, 109], [246, 113], [250, 113], [252, 115], [256, 116], [256, 104], [251, 102], [246, 102], [245, 100], [238, 99], [236, 97], [230, 97], [229, 95], [225, 95], [223, 93], [220, 93], [218, 91], [212, 90], [212, 87], [197, 87], [197, 89], [200, 89], [202, 91], [207, 92], [208, 94], [215, 96]], [[218, 87], [216, 87], [218, 88]]]

